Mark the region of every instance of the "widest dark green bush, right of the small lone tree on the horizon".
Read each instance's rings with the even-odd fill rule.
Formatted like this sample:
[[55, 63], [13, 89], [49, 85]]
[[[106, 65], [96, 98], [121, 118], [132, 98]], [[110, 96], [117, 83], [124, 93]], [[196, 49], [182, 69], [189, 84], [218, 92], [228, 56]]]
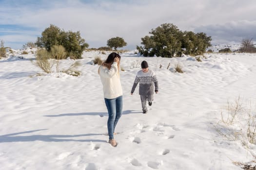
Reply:
[[200, 55], [211, 46], [211, 36], [204, 33], [182, 32], [173, 24], [161, 24], [142, 37], [137, 50], [144, 56], [176, 57], [182, 53]]

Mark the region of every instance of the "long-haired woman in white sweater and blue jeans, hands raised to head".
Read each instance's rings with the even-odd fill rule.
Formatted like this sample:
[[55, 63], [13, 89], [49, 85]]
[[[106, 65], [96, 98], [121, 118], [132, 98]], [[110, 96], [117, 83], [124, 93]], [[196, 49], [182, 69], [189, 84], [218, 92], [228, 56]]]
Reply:
[[112, 52], [98, 68], [98, 74], [103, 85], [104, 100], [108, 110], [109, 143], [114, 147], [118, 145], [114, 139], [114, 132], [118, 119], [122, 115], [123, 106], [119, 72], [120, 59], [121, 56], [118, 53]]

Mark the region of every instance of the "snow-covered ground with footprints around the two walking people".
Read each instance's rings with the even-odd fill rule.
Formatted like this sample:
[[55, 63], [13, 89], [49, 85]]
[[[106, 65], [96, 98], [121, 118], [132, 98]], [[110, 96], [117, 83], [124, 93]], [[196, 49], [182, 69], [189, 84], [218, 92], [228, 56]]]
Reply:
[[[221, 121], [221, 113], [227, 118], [225, 108], [239, 98], [256, 113], [256, 54], [205, 54], [202, 62], [121, 54], [124, 103], [114, 148], [107, 142], [98, 65], [92, 64], [109, 53], [85, 52], [78, 60], [82, 74], [74, 77], [32, 76], [42, 73], [30, 61], [35, 54], [20, 52], [0, 59], [1, 170], [241, 170], [234, 162], [255, 160], [256, 147], [246, 135], [228, 139], [234, 129], [246, 134], [248, 112], [239, 112], [231, 125]], [[147, 114], [138, 87], [130, 95], [142, 60], [159, 83]], [[67, 59], [60, 66], [72, 63]], [[184, 73], [175, 72], [177, 64]]]

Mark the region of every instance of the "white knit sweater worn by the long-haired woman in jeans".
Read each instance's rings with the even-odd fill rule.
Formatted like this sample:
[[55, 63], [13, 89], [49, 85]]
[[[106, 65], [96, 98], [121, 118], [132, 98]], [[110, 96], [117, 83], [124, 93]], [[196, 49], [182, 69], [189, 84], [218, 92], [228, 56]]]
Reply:
[[99, 66], [99, 76], [103, 85], [104, 98], [115, 99], [123, 95], [116, 62], [111, 65], [110, 69], [102, 65]]

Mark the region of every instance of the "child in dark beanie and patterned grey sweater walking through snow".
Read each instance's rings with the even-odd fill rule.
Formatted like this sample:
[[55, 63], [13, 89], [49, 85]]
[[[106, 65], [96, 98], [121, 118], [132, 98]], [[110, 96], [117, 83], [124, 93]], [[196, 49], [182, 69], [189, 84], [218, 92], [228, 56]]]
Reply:
[[[143, 113], [147, 113], [148, 109], [146, 106], [146, 102], [148, 101], [148, 105], [152, 105], [154, 89], [155, 92], [158, 93], [158, 80], [155, 72], [152, 69], [148, 68], [148, 63], [146, 61], [141, 62], [141, 70], [138, 71], [132, 90], [131, 95], [139, 83], [138, 94], [140, 95], [142, 111]], [[155, 87], [154, 87], [155, 85]]]

